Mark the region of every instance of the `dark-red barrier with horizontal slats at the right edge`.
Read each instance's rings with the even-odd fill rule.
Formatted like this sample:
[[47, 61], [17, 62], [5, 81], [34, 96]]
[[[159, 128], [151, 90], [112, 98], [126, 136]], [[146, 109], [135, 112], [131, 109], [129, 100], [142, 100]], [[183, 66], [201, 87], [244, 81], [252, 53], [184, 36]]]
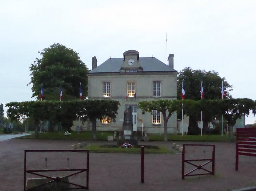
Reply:
[[238, 155], [256, 156], [256, 128], [236, 128], [236, 170]]

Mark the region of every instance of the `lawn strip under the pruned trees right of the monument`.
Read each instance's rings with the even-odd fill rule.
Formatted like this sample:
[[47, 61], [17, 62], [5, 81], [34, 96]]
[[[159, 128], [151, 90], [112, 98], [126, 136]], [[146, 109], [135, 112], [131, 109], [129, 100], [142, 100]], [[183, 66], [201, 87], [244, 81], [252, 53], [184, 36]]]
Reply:
[[[150, 141], [164, 140], [163, 134], [149, 134]], [[228, 135], [187, 135], [183, 134], [168, 134], [168, 141], [229, 141]]]

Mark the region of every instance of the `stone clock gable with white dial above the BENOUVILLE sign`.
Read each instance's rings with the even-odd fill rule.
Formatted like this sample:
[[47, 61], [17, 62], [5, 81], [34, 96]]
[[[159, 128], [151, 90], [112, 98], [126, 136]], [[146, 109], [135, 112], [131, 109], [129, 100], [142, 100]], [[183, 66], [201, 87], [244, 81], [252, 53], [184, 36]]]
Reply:
[[136, 50], [128, 50], [123, 53], [121, 73], [139, 73], [143, 71], [139, 59], [140, 53]]

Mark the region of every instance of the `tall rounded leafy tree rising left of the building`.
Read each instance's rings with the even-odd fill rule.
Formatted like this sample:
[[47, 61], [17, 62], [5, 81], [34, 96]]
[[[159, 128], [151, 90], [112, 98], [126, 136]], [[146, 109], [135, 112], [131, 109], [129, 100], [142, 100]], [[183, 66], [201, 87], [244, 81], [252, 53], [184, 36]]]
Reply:
[[[39, 52], [40, 53], [40, 52]], [[61, 44], [53, 44], [43, 49], [42, 58], [31, 64], [32, 97], [40, 100], [41, 84], [43, 100], [60, 100], [60, 83], [63, 101], [79, 99], [80, 82], [82, 98], [87, 97], [87, 73], [89, 69], [80, 60], [78, 53]]]

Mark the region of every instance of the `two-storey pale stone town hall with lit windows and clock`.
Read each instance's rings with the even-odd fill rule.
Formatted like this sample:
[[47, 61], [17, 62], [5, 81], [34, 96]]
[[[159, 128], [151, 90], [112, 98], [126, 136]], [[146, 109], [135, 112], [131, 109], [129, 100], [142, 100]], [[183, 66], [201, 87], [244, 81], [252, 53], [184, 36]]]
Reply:
[[[137, 107], [140, 101], [177, 98], [177, 71], [173, 68], [173, 54], [169, 65], [154, 57], [140, 58], [140, 53], [128, 50], [122, 58], [109, 58], [97, 66], [93, 57], [92, 71], [88, 73], [88, 99], [112, 99], [120, 102], [116, 122], [97, 120], [97, 131], [121, 131], [124, 110], [132, 107], [134, 131], [163, 133], [163, 116], [142, 115]], [[128, 98], [127, 98], [128, 94]], [[168, 120], [168, 133], [177, 133], [177, 117], [174, 113]]]

